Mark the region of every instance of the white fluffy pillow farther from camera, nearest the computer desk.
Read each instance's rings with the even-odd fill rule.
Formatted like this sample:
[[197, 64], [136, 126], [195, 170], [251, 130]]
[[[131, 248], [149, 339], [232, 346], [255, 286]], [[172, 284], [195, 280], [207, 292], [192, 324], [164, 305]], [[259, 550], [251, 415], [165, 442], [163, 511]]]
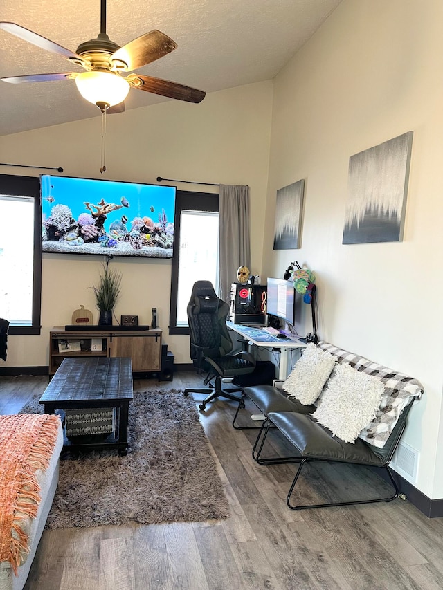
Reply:
[[308, 344], [283, 383], [284, 391], [304, 405], [314, 403], [334, 369], [336, 360], [336, 356], [319, 349], [315, 344]]

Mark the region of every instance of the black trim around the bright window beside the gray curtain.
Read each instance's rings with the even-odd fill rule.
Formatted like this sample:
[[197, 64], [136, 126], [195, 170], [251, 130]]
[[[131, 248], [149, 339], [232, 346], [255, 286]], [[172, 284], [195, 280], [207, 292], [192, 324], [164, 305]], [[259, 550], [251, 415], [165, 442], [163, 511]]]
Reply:
[[177, 326], [177, 291], [179, 283], [180, 221], [182, 210], [219, 212], [219, 194], [177, 190], [174, 217], [174, 249], [171, 267], [169, 333], [189, 335], [188, 326]]

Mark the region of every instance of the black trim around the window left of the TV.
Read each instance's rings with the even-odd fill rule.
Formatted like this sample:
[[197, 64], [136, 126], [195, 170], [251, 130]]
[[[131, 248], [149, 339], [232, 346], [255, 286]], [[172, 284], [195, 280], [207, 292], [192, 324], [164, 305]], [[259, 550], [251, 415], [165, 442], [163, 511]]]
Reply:
[[[42, 331], [42, 208], [39, 176], [0, 174], [0, 192], [34, 199], [33, 325], [9, 326], [10, 335], [39, 335]], [[6, 320], [8, 318], [5, 318]]]

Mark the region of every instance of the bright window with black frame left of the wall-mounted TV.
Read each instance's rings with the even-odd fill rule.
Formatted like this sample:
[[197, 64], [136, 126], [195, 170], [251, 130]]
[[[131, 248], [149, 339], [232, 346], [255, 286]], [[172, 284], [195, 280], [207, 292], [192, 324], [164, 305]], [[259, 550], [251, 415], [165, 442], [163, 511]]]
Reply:
[[0, 317], [10, 334], [39, 334], [42, 289], [40, 181], [0, 174]]

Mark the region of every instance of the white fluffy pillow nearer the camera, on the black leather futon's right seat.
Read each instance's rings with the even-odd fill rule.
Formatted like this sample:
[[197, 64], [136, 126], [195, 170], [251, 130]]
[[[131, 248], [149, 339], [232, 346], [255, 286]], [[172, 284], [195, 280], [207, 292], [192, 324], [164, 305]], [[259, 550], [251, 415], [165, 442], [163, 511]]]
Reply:
[[383, 389], [377, 377], [360, 373], [350, 365], [338, 365], [313, 416], [334, 436], [354, 443], [374, 419]]

